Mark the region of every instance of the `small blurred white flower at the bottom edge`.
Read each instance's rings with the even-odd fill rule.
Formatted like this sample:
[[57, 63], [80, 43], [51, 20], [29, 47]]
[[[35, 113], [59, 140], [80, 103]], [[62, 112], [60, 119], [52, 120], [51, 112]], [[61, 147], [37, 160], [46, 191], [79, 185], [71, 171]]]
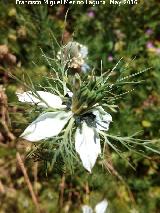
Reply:
[[[104, 199], [103, 201], [101, 201], [95, 206], [94, 211], [95, 213], [105, 213], [107, 206], [108, 206], [108, 202], [106, 199]], [[83, 213], [93, 213], [93, 209], [88, 205], [82, 206], [82, 211]]]

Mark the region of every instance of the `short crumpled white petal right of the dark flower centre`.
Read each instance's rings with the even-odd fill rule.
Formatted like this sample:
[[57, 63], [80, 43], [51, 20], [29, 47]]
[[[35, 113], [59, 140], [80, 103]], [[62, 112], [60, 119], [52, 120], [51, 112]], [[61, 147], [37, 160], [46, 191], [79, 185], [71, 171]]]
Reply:
[[112, 116], [104, 111], [102, 107], [96, 107], [92, 113], [96, 116], [96, 126], [99, 130], [107, 131], [112, 121]]

